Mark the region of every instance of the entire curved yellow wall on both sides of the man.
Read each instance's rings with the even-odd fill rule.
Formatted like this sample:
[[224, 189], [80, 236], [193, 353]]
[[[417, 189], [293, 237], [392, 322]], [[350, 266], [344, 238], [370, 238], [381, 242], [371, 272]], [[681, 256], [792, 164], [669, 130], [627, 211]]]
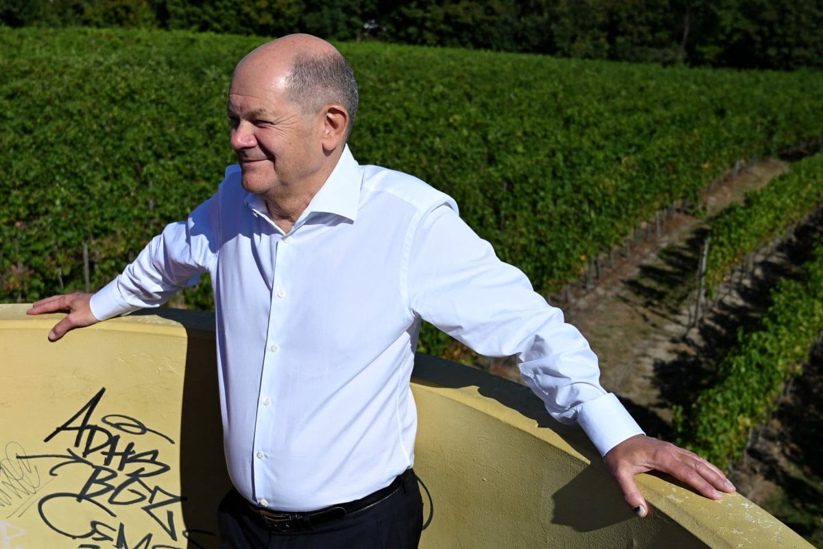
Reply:
[[[0, 305], [0, 549], [217, 547], [229, 488], [212, 315], [133, 314], [49, 343], [60, 315]], [[417, 361], [423, 549], [811, 547], [739, 495], [658, 477], [635, 519], [579, 430], [527, 388]]]

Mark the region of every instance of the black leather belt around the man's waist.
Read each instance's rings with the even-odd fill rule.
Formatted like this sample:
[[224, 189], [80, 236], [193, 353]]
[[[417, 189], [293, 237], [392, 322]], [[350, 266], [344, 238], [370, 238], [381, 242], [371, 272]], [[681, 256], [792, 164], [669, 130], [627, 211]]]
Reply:
[[310, 530], [315, 526], [328, 523], [332, 520], [342, 519], [346, 515], [359, 513], [365, 509], [379, 504], [388, 498], [402, 486], [404, 477], [409, 476], [412, 469], [408, 469], [402, 475], [396, 477], [391, 484], [385, 488], [366, 495], [360, 500], [349, 501], [338, 505], [330, 505], [316, 511], [306, 511], [301, 513], [290, 513], [288, 511], [272, 511], [264, 507], [249, 504], [249, 507], [258, 515], [267, 528], [274, 532], [299, 532]]

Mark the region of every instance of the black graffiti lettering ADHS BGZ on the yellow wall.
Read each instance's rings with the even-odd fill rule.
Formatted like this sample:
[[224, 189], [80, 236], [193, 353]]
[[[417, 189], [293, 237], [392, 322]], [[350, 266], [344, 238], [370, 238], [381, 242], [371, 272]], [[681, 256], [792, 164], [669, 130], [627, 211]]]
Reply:
[[[75, 540], [77, 549], [213, 544], [214, 533], [184, 528], [179, 504], [185, 497], [168, 488], [171, 466], [161, 450], [174, 440], [132, 416], [103, 413], [104, 395], [101, 388], [54, 427], [41, 453], [6, 444], [0, 454], [0, 549], [23, 549], [26, 531], [14, 520], [33, 509], [53, 533]], [[142, 519], [136, 527], [128, 519], [135, 516]]]

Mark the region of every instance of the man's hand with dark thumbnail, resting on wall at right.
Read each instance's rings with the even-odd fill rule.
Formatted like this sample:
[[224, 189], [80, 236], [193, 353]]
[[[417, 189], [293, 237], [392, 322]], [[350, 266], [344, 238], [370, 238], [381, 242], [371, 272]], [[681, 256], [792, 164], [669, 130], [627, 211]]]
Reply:
[[666, 472], [712, 500], [735, 491], [720, 469], [699, 455], [646, 435], [635, 435], [609, 450], [603, 460], [635, 514], [649, 514], [649, 505], [635, 483], [639, 472]]

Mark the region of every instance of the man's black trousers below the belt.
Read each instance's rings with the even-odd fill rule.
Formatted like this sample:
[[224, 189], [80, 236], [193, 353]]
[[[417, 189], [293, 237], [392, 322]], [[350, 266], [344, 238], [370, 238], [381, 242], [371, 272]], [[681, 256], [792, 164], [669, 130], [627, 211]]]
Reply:
[[412, 472], [403, 477], [398, 491], [369, 509], [309, 530], [278, 533], [232, 488], [221, 501], [217, 521], [221, 549], [415, 549], [423, 500]]

